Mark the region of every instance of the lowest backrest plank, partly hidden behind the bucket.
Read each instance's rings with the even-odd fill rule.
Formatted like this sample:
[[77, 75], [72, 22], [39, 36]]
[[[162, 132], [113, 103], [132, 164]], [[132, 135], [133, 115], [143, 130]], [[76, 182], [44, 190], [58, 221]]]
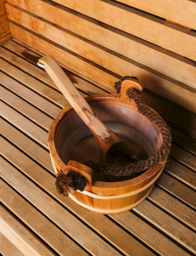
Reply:
[[[80, 71], [82, 72], [83, 76], [87, 76], [88, 80], [91, 79], [91, 82], [95, 84], [98, 83], [99, 87], [107, 87], [108, 91], [109, 86], [111, 86], [111, 88], [114, 88], [114, 82], [118, 81], [118, 78], [115, 78], [114, 76], [109, 75], [103, 70], [95, 68], [91, 65], [91, 67], [93, 67], [92, 70], [89, 63], [82, 61], [74, 55], [68, 54], [57, 46], [49, 44], [43, 39], [36, 37], [35, 35], [30, 36], [29, 32], [24, 31], [13, 24], [11, 24], [11, 26], [13, 26], [18, 31], [18, 33], [16, 33], [17, 37], [21, 35], [20, 39], [23, 41], [25, 38], [25, 43], [28, 43], [31, 46], [38, 45], [40, 47], [39, 50], [42, 50], [42, 52], [44, 52], [45, 54], [51, 54], [51, 52], [58, 52], [58, 55], [56, 55], [57, 61], [59, 61], [60, 63], [65, 63], [66, 60], [67, 66], [71, 66], [72, 70], [74, 68], [75, 70], [78, 70], [78, 67], [82, 67], [82, 71]], [[91, 70], [92, 72], [89, 72], [89, 70]], [[179, 105], [167, 102], [165, 99], [158, 95], [154, 95], [153, 93], [149, 95], [149, 91], [148, 93], [145, 93], [144, 91], [143, 96], [147, 102], [150, 102], [149, 105], [154, 108], [158, 113], [160, 113], [160, 115], [162, 115], [166, 120], [176, 124], [176, 126], [179, 126], [184, 130], [189, 131], [191, 134], [196, 134], [196, 122], [194, 113], [192, 113], [191, 111], [187, 111], [187, 109], [181, 108]], [[168, 111], [168, 109], [170, 109], [170, 111]], [[176, 113], [179, 113], [179, 109], [181, 115], [176, 115]]]

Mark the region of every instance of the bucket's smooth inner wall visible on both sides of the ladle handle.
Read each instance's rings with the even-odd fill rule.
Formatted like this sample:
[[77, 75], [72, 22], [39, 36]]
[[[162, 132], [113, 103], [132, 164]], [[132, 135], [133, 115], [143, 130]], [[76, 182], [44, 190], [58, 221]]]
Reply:
[[[162, 140], [158, 128], [135, 108], [109, 101], [93, 102], [90, 105], [106, 126], [113, 132], [136, 141], [148, 156], [160, 148]], [[80, 163], [87, 160], [99, 162], [98, 143], [91, 130], [73, 109], [62, 117], [60, 125], [56, 127], [54, 144], [58, 156], [65, 164], [69, 160]], [[124, 177], [123, 180], [135, 176]], [[109, 178], [109, 181], [114, 180]]]

